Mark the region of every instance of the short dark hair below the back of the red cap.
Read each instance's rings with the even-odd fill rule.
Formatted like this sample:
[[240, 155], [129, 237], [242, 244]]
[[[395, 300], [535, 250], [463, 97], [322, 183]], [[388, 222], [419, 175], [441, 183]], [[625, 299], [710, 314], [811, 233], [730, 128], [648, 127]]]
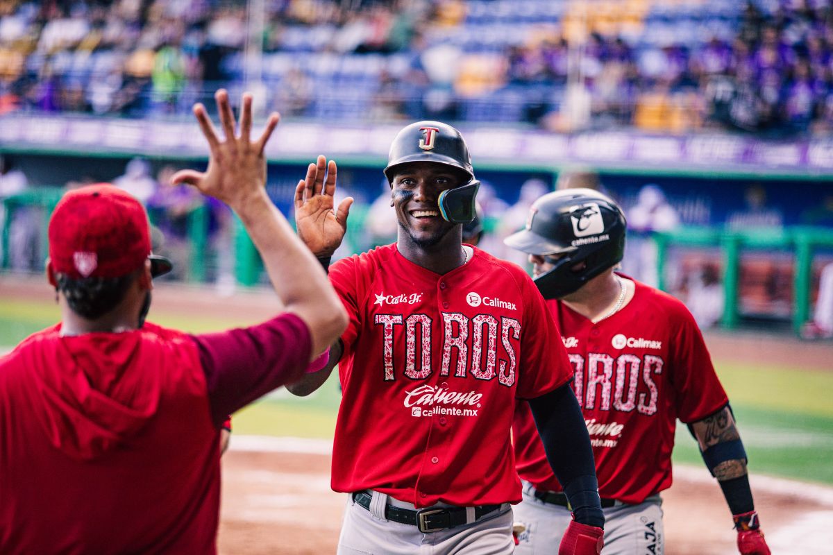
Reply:
[[115, 278], [88, 277], [73, 280], [66, 274], [57, 274], [57, 290], [67, 299], [67, 305], [77, 315], [94, 320], [106, 315], [122, 302], [135, 272]]

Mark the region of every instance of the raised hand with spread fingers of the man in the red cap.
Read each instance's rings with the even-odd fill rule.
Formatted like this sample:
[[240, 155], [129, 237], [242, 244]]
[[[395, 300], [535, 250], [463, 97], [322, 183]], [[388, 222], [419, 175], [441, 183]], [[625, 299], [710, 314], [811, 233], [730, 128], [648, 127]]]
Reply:
[[217, 131], [208, 118], [206, 108], [202, 104], [195, 104], [194, 116], [197, 116], [210, 149], [208, 168], [204, 172], [177, 171], [171, 181], [195, 186], [203, 194], [213, 196], [227, 203], [232, 209], [237, 209], [240, 203], [246, 202], [252, 196], [260, 196], [265, 191], [266, 156], [263, 155], [263, 149], [281, 116], [272, 112], [262, 135], [257, 141], [252, 141], [252, 94], [243, 93], [240, 136], [235, 134], [234, 114], [228, 102], [228, 93], [225, 89], [220, 89], [215, 93], [214, 99], [217, 101], [217, 111], [226, 140], [220, 141], [217, 138]]

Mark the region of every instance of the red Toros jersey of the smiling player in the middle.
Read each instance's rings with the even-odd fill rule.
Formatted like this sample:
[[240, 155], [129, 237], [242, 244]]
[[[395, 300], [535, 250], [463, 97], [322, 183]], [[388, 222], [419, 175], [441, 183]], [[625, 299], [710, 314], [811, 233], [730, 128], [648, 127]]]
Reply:
[[332, 488], [417, 507], [518, 503], [516, 398], [572, 377], [529, 276], [477, 249], [438, 275], [386, 245], [339, 260], [330, 280], [350, 316]]

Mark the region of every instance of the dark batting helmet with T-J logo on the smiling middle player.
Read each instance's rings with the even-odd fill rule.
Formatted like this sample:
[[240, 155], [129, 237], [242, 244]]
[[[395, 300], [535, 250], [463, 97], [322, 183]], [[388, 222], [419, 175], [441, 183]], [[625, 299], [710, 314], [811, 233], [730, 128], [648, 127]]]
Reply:
[[468, 181], [442, 191], [438, 204], [447, 221], [465, 224], [475, 218], [474, 199], [480, 181], [474, 177], [465, 139], [454, 127], [440, 121], [417, 121], [399, 131], [387, 156], [385, 176], [393, 183], [397, 169], [411, 162], [433, 162], [461, 170]]

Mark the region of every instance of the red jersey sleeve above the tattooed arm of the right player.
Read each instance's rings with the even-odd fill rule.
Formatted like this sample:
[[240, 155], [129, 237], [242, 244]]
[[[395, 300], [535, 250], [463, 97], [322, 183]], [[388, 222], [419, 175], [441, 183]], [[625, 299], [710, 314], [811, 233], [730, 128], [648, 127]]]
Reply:
[[715, 414], [729, 399], [691, 312], [680, 303], [669, 317], [678, 323], [671, 364], [677, 418], [688, 424]]

